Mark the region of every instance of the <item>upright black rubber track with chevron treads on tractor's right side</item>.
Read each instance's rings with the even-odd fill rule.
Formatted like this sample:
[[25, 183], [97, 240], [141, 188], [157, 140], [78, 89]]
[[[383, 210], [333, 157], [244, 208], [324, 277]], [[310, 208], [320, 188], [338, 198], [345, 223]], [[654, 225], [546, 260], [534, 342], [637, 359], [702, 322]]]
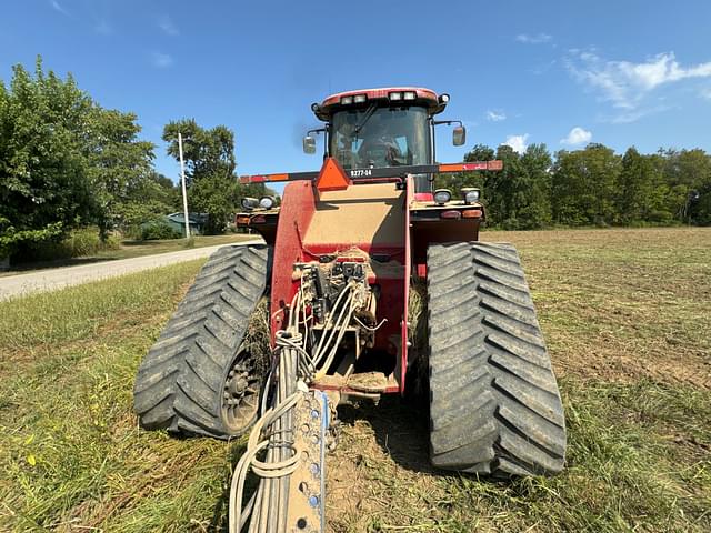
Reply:
[[428, 250], [431, 459], [494, 477], [563, 467], [565, 420], [510, 244]]

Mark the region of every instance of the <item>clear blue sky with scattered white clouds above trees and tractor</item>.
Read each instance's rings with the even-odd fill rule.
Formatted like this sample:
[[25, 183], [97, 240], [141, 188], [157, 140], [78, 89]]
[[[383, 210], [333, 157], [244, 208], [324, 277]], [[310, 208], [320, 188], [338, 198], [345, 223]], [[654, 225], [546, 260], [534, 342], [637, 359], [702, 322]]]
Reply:
[[[711, 151], [707, 0], [26, 0], [2, 12], [0, 78], [38, 53], [72, 72], [103, 107], [138, 114], [173, 179], [170, 120], [231, 128], [240, 174], [311, 170], [310, 103], [394, 84], [450, 93], [442, 118], [465, 122], [467, 148]], [[439, 139], [438, 159], [461, 160], [449, 131]]]

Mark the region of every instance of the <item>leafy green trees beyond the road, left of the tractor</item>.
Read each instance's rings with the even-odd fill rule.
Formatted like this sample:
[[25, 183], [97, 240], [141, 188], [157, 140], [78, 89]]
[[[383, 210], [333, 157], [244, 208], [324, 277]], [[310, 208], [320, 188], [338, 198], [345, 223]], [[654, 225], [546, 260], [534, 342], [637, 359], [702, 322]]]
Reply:
[[[0, 259], [32, 255], [79, 228], [96, 227], [101, 239], [181, 211], [180, 188], [158, 173], [153, 143], [141, 140], [137, 115], [104, 109], [64, 79], [12, 70], [0, 81]], [[224, 230], [239, 198], [234, 137], [194, 120], [166, 125], [168, 152], [178, 159], [177, 134], [186, 140], [191, 211], [209, 214], [209, 232]], [[259, 188], [259, 187], [257, 187]]]

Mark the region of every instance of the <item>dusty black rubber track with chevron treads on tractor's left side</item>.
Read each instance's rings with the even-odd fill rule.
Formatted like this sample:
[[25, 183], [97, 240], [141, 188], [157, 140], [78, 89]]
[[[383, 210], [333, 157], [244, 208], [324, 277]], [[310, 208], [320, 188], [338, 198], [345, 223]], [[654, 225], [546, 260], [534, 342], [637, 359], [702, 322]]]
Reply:
[[233, 436], [222, 423], [220, 396], [264, 293], [268, 262], [269, 249], [260, 244], [210, 255], [139, 368], [133, 406], [142, 428]]

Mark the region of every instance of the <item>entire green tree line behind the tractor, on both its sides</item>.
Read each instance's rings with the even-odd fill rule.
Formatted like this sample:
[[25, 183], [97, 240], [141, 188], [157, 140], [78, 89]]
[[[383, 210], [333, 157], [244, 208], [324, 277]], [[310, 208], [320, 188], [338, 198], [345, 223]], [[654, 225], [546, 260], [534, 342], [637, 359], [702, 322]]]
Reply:
[[[102, 108], [71, 74], [13, 68], [0, 82], [0, 259], [57, 242], [79, 228], [101, 239], [181, 211], [180, 188], [158, 173], [156, 147], [139, 138], [131, 112]], [[207, 232], [219, 233], [243, 195], [269, 193], [240, 185], [234, 134], [192, 119], [171, 121], [162, 139], [178, 160], [184, 139], [188, 197], [193, 212], [209, 214]], [[500, 172], [438, 177], [458, 189], [479, 187], [490, 225], [711, 224], [711, 157], [701, 149], [624, 154], [602, 144], [551, 154], [544, 144], [524, 153], [478, 144], [467, 161], [503, 160]]]

